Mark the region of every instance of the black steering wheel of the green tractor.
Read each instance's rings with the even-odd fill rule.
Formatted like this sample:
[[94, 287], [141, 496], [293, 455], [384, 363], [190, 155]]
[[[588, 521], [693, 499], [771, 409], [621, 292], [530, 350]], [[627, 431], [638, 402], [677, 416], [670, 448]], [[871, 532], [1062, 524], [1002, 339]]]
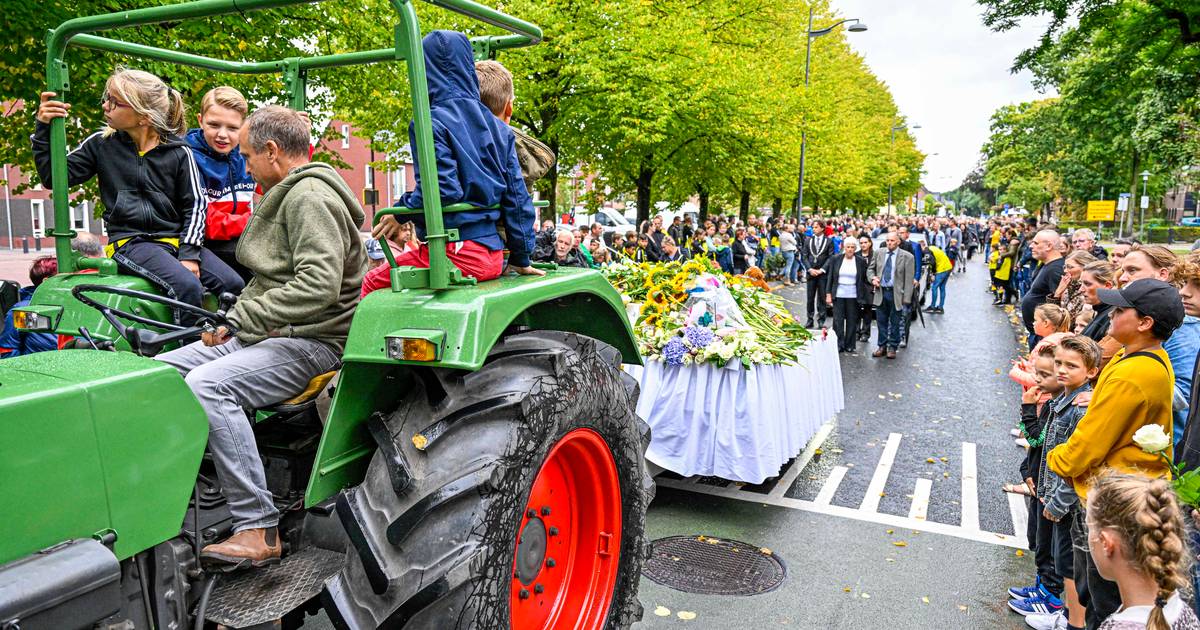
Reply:
[[[197, 317], [197, 325], [194, 326], [180, 326], [176, 324], [167, 324], [148, 317], [142, 317], [139, 314], [131, 313], [128, 311], [122, 311], [120, 308], [109, 306], [107, 304], [101, 304], [89, 296], [89, 293], [108, 293], [112, 295], [121, 295], [125, 298], [133, 298], [137, 300], [143, 300], [154, 304], [161, 304], [169, 308], [176, 308], [180, 312], [190, 313]], [[156, 295], [154, 293], [146, 293], [142, 290], [125, 289], [121, 287], [106, 287], [103, 284], [79, 284], [71, 289], [71, 294], [74, 295], [80, 302], [100, 311], [100, 314], [104, 316], [104, 319], [112, 324], [113, 329], [128, 342], [130, 348], [142, 355], [142, 356], [154, 356], [158, 354], [160, 350], [168, 343], [174, 343], [188, 337], [194, 337], [205, 330], [211, 330], [215, 326], [227, 326], [233, 329], [233, 324], [226, 318], [226, 312], [233, 307], [238, 298], [232, 293], [222, 293], [217, 299], [218, 307], [217, 312], [206, 311], [199, 306], [192, 306], [187, 302], [181, 302], [170, 298], [164, 298], [162, 295]], [[134, 328], [132, 325], [126, 325], [121, 319], [127, 319], [138, 324], [144, 324], [148, 326], [160, 328], [168, 330], [168, 332], [152, 332], [144, 328]]]

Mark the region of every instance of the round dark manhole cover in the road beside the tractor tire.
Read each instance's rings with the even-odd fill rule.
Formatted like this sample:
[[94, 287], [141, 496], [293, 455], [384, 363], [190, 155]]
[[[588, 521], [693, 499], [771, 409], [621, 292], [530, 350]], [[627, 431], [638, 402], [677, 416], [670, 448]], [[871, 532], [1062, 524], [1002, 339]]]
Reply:
[[642, 574], [684, 593], [757, 595], [787, 577], [784, 560], [769, 550], [708, 536], [668, 536], [650, 544]]

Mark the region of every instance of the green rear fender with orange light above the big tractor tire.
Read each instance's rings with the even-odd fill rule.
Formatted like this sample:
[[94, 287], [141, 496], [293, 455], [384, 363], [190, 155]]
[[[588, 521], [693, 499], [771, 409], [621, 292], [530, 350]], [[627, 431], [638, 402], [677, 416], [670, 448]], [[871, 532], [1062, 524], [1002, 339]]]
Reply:
[[[362, 481], [376, 450], [366, 420], [374, 412], [395, 409], [406, 395], [413, 378], [406, 366], [476, 371], [514, 325], [592, 337], [616, 348], [622, 361], [641, 364], [620, 295], [593, 270], [559, 268], [544, 277], [504, 276], [445, 290], [377, 290], [354, 314], [305, 506]], [[401, 343], [389, 338], [430, 341], [436, 359], [396, 359]]]

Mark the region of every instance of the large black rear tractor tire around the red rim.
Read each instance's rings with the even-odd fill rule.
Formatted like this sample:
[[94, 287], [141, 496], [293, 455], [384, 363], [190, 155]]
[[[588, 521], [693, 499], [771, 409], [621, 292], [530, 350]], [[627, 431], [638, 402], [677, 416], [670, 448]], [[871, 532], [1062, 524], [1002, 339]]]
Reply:
[[505, 337], [478, 372], [419, 370], [400, 407], [370, 422], [379, 449], [364, 482], [338, 497], [352, 548], [323, 593], [335, 625], [508, 629], [534, 476], [558, 439], [581, 427], [605, 439], [620, 481], [619, 572], [604, 628], [641, 619], [654, 482], [637, 395], [616, 349], [563, 332]]

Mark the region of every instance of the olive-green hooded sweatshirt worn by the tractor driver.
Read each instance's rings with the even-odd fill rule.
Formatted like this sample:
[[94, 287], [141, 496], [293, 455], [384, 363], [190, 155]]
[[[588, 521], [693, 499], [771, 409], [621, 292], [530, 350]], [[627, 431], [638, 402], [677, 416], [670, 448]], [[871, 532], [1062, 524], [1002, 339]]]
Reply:
[[296, 167], [266, 191], [238, 242], [254, 272], [229, 311], [238, 338], [307, 337], [341, 352], [367, 269], [365, 216], [329, 164]]

